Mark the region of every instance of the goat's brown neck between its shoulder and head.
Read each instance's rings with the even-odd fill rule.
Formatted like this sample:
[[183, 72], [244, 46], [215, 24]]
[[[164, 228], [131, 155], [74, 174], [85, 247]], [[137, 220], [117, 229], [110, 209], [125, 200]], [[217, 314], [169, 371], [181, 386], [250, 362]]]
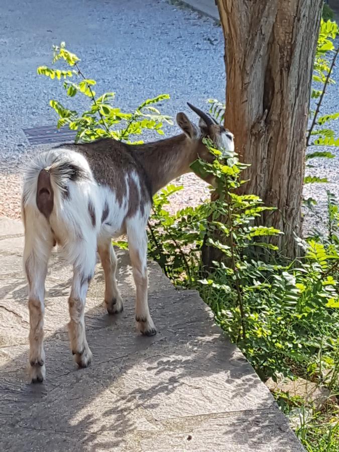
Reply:
[[184, 134], [133, 147], [150, 178], [153, 194], [173, 179], [189, 172], [189, 165], [196, 158]]

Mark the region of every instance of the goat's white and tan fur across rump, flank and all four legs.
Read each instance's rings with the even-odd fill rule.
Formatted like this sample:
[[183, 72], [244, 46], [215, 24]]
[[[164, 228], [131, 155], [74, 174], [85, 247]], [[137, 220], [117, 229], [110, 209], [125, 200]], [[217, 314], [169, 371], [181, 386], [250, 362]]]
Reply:
[[[86, 178], [69, 180], [62, 171], [65, 163], [76, 164]], [[54, 191], [53, 210], [47, 219], [38, 209], [37, 185], [41, 170], [51, 174]], [[130, 175], [139, 190], [137, 173]], [[155, 327], [147, 302], [147, 240], [146, 223], [151, 210], [149, 202], [143, 214], [137, 209], [133, 217], [127, 217], [129, 206], [129, 184], [126, 174], [127, 194], [120, 206], [117, 196], [107, 186], [98, 185], [93, 178], [86, 159], [71, 150], [57, 149], [41, 154], [28, 168], [23, 190], [22, 212], [25, 222], [24, 263], [29, 281], [30, 309], [30, 375], [32, 381], [42, 381], [45, 377], [43, 349], [43, 316], [45, 278], [48, 259], [54, 238], [59, 251], [73, 265], [73, 281], [69, 297], [70, 322], [68, 325], [72, 353], [80, 367], [86, 367], [91, 360], [84, 323], [84, 306], [88, 283], [94, 274], [96, 250], [98, 250], [105, 272], [105, 303], [109, 313], [121, 312], [123, 301], [116, 282], [117, 258], [111, 246], [111, 238], [127, 233], [133, 274], [137, 287], [136, 317], [138, 328], [145, 334], [154, 334]], [[63, 197], [65, 186], [68, 197]], [[95, 211], [95, 227], [88, 211], [88, 202]], [[105, 202], [109, 213], [101, 224]]]

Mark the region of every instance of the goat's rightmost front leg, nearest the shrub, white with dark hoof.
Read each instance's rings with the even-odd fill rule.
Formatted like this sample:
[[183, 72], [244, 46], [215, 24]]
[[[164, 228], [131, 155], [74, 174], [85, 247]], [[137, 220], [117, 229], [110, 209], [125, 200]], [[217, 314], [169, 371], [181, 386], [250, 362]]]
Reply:
[[140, 224], [127, 227], [133, 277], [137, 289], [137, 328], [146, 336], [153, 336], [157, 330], [148, 308], [147, 236]]

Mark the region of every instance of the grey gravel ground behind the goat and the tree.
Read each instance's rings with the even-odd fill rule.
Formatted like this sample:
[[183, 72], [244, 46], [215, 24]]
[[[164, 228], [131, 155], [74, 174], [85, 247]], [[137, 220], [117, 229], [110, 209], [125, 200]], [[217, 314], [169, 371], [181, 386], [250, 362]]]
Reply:
[[[20, 216], [23, 168], [31, 155], [44, 149], [30, 147], [22, 128], [56, 123], [48, 102], [51, 98], [64, 100], [60, 82], [37, 76], [36, 68], [50, 63], [52, 44], [61, 41], [82, 58], [81, 68], [96, 79], [97, 92], [115, 91], [117, 105], [125, 110], [168, 92], [171, 100], [162, 104], [162, 112], [175, 117], [183, 110], [196, 120], [187, 100], [206, 108], [207, 98], [224, 98], [222, 31], [212, 19], [178, 9], [166, 0], [127, 0], [123, 6], [117, 0], [2, 0], [0, 215]], [[333, 78], [339, 82], [337, 67]], [[322, 114], [339, 109], [338, 86], [329, 86]], [[64, 103], [67, 105], [67, 98]], [[80, 96], [68, 105], [86, 107]], [[339, 137], [338, 121], [333, 128]], [[177, 126], [165, 130], [167, 136], [178, 132]], [[330, 181], [305, 187], [305, 197], [319, 201], [321, 215], [325, 190], [339, 196], [339, 150], [330, 150], [334, 159], [314, 159], [316, 168], [307, 169], [307, 174]], [[185, 188], [173, 196], [172, 210], [197, 204], [208, 195], [204, 182], [194, 175], [185, 175], [180, 182]], [[317, 223], [317, 218], [307, 213], [305, 228]]]

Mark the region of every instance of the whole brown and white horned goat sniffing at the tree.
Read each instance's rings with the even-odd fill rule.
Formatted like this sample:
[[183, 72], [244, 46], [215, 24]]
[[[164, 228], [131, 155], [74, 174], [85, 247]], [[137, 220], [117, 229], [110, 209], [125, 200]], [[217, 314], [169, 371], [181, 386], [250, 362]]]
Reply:
[[46, 372], [45, 278], [56, 243], [73, 265], [68, 331], [79, 367], [87, 367], [92, 357], [86, 341], [84, 307], [96, 251], [104, 271], [107, 311], [117, 314], [123, 310], [112, 238], [127, 234], [137, 292], [137, 327], [148, 336], [156, 333], [147, 296], [146, 225], [152, 196], [171, 180], [190, 172], [190, 165], [198, 157], [213, 160], [203, 137], [209, 136], [217, 146], [234, 150], [233, 135], [228, 130], [188, 105], [200, 117], [199, 127], [180, 112], [176, 121], [184, 132], [181, 135], [142, 145], [113, 139], [64, 144], [35, 157], [29, 166], [22, 194], [22, 217], [24, 268], [29, 284], [29, 372], [33, 383], [42, 382]]

